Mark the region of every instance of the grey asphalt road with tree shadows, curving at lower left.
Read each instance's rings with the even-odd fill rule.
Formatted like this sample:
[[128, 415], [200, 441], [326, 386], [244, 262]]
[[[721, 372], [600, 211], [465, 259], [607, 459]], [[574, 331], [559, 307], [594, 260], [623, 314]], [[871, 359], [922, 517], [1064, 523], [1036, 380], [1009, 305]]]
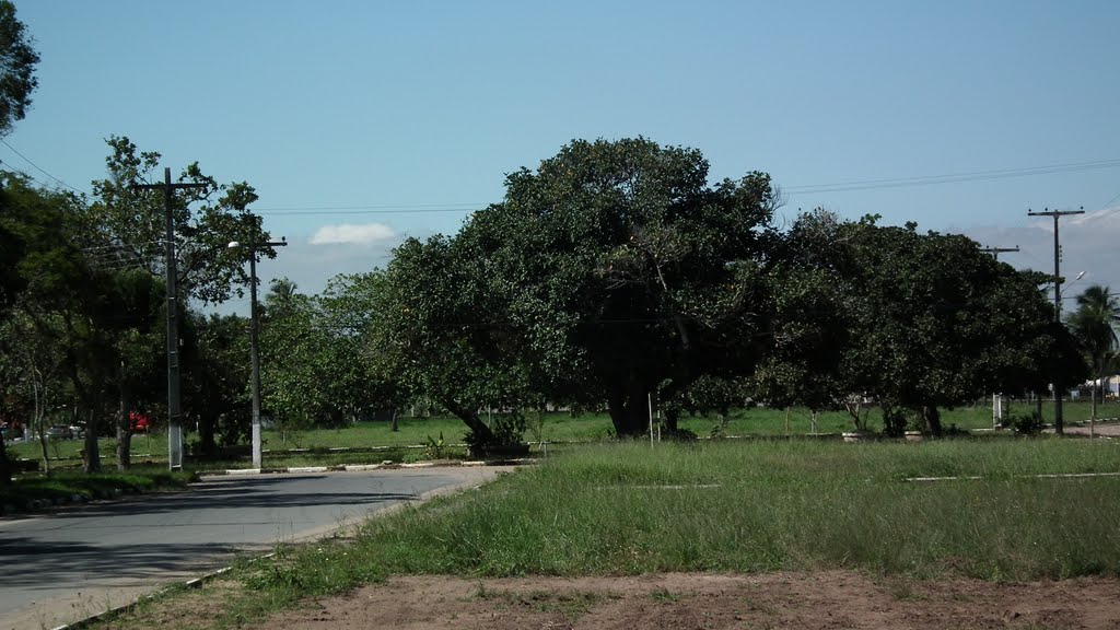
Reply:
[[186, 492], [0, 520], [0, 629], [71, 623], [223, 566], [237, 552], [325, 536], [498, 470], [211, 478]]

